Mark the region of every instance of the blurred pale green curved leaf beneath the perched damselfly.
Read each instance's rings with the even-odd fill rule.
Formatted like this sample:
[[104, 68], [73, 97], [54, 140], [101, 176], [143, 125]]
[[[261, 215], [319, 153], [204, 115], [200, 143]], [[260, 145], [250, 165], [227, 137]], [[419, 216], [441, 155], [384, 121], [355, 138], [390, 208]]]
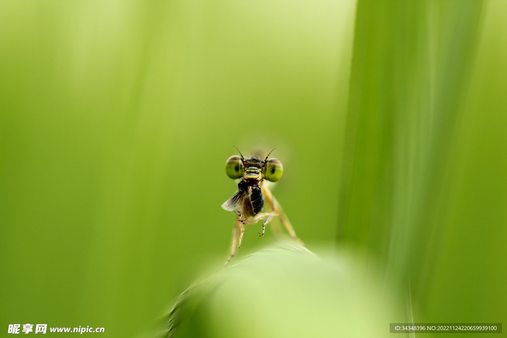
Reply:
[[259, 251], [187, 289], [168, 336], [387, 336], [395, 302], [359, 266], [293, 244]]

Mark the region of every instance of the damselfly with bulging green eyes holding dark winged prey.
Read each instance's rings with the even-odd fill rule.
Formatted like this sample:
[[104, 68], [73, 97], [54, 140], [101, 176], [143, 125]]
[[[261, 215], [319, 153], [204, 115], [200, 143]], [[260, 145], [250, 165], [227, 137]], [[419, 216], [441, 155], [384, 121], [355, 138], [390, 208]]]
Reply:
[[[227, 175], [230, 178], [239, 178], [241, 180], [238, 183], [238, 191], [222, 204], [222, 208], [227, 211], [234, 211], [237, 215], [232, 236], [231, 253], [225, 265], [234, 257], [236, 249], [241, 247], [245, 224], [253, 224], [259, 220], [263, 220], [262, 232], [259, 233], [259, 236], [264, 236], [266, 225], [274, 216], [280, 218], [283, 227], [293, 240], [304, 245], [296, 236], [291, 222], [288, 221], [266, 184], [266, 181], [278, 181], [283, 174], [283, 166], [280, 161], [277, 159], [268, 160], [271, 152], [264, 160], [256, 156], [245, 159], [241, 155], [241, 152], [239, 152], [241, 157], [237, 155], [231, 156], [226, 162], [225, 170]], [[262, 212], [263, 207], [266, 205], [269, 207], [269, 212]]]

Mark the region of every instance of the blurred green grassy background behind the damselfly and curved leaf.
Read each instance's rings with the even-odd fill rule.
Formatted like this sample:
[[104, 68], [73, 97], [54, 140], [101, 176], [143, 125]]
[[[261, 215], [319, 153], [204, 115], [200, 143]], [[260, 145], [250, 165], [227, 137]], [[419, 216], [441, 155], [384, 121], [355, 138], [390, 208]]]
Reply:
[[0, 2], [0, 330], [150, 327], [227, 257], [232, 145], [278, 147], [298, 236], [410, 280], [416, 322], [507, 322], [505, 13]]

